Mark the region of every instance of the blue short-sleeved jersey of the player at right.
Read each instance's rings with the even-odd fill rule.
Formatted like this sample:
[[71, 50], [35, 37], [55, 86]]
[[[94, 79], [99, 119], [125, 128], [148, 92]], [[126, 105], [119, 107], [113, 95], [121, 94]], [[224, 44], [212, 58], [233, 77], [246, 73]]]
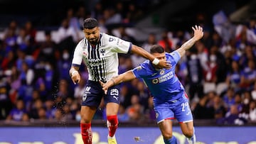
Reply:
[[184, 88], [175, 74], [175, 66], [181, 56], [177, 51], [166, 53], [166, 60], [171, 62], [171, 69], [156, 70], [149, 60], [134, 68], [135, 77], [142, 78], [154, 99], [176, 100], [184, 94]]

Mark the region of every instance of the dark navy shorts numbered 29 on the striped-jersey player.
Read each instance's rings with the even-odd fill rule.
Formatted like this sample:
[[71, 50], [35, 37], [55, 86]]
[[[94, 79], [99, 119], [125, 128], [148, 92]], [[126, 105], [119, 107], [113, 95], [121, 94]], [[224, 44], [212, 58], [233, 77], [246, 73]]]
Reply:
[[105, 104], [114, 102], [120, 104], [119, 99], [120, 87], [116, 85], [110, 87], [107, 90], [107, 94], [102, 90], [100, 82], [88, 81], [86, 84], [85, 92], [82, 95], [82, 106], [100, 106], [102, 97], [104, 98]]

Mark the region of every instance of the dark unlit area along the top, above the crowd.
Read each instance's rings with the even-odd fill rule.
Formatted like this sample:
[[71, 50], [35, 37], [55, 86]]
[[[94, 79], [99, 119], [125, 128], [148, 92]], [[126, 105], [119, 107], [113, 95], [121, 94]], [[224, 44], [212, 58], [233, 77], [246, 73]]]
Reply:
[[[124, 3], [127, 1], [123, 0]], [[151, 12], [165, 11], [161, 9], [161, 6], [172, 1], [162, 0], [159, 5], [149, 6], [146, 8], [146, 14], [150, 15]], [[166, 26], [172, 25], [172, 28], [183, 29], [190, 26], [189, 23], [195, 23], [195, 18], [198, 13], [203, 13], [208, 21], [214, 13], [223, 9], [225, 13], [230, 14], [233, 11], [240, 9], [250, 2], [250, 0], [229, 0], [229, 1], [203, 1], [203, 0], [193, 0], [191, 6], [189, 6], [186, 11], [178, 11], [175, 14], [166, 13]], [[60, 21], [65, 17], [68, 8], [72, 7], [77, 9], [78, 6], [85, 6], [87, 11], [91, 11], [95, 0], [73, 0], [73, 1], [61, 1], [61, 0], [44, 0], [44, 1], [34, 1], [34, 0], [1, 0], [0, 1], [0, 27], [8, 26], [11, 20], [16, 20], [18, 23], [22, 24], [24, 21], [31, 20], [33, 25], [38, 29], [43, 28], [56, 28], [60, 26]], [[116, 1], [106, 1], [103, 0], [102, 4], [104, 6], [114, 6]], [[146, 1], [139, 1], [142, 5]], [[177, 5], [178, 6], [178, 5]], [[187, 29], [187, 28], [186, 28]]]

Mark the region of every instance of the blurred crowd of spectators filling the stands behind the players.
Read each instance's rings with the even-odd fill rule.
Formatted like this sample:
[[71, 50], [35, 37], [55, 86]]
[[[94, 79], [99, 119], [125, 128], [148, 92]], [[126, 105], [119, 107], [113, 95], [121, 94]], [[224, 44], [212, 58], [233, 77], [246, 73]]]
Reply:
[[[12, 18], [6, 27], [1, 23], [0, 120], [80, 121], [87, 69], [80, 67], [82, 79], [76, 85], [68, 70], [73, 49], [83, 38], [84, 18], [97, 18], [102, 32], [145, 50], [159, 44], [171, 52], [191, 38], [191, 28], [165, 28], [145, 40], [137, 40], [136, 31], [127, 33], [152, 8], [165, 3], [102, 0], [66, 7], [48, 23], [33, 18]], [[178, 63], [176, 75], [187, 89], [194, 118], [220, 125], [256, 123], [256, 15], [240, 23], [230, 21], [225, 11], [211, 16], [198, 12], [193, 18], [193, 24], [203, 27], [204, 37]], [[119, 73], [143, 61], [137, 55], [119, 55]], [[119, 121], [155, 120], [152, 98], [140, 79], [124, 82], [120, 99]], [[94, 119], [106, 119], [104, 101]]]

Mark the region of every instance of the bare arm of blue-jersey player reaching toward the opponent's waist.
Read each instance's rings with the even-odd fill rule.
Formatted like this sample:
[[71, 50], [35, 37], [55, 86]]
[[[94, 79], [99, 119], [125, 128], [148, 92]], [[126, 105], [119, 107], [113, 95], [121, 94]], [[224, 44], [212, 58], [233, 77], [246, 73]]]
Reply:
[[102, 89], [104, 90], [105, 94], [107, 94], [107, 89], [109, 89], [110, 87], [112, 87], [116, 84], [119, 84], [121, 82], [130, 81], [135, 78], [136, 77], [135, 77], [134, 73], [132, 72], [132, 70], [129, 70], [127, 72], [119, 74], [117, 77], [112, 77], [112, 79], [110, 79], [106, 83], [100, 82], [100, 84], [102, 85]]

